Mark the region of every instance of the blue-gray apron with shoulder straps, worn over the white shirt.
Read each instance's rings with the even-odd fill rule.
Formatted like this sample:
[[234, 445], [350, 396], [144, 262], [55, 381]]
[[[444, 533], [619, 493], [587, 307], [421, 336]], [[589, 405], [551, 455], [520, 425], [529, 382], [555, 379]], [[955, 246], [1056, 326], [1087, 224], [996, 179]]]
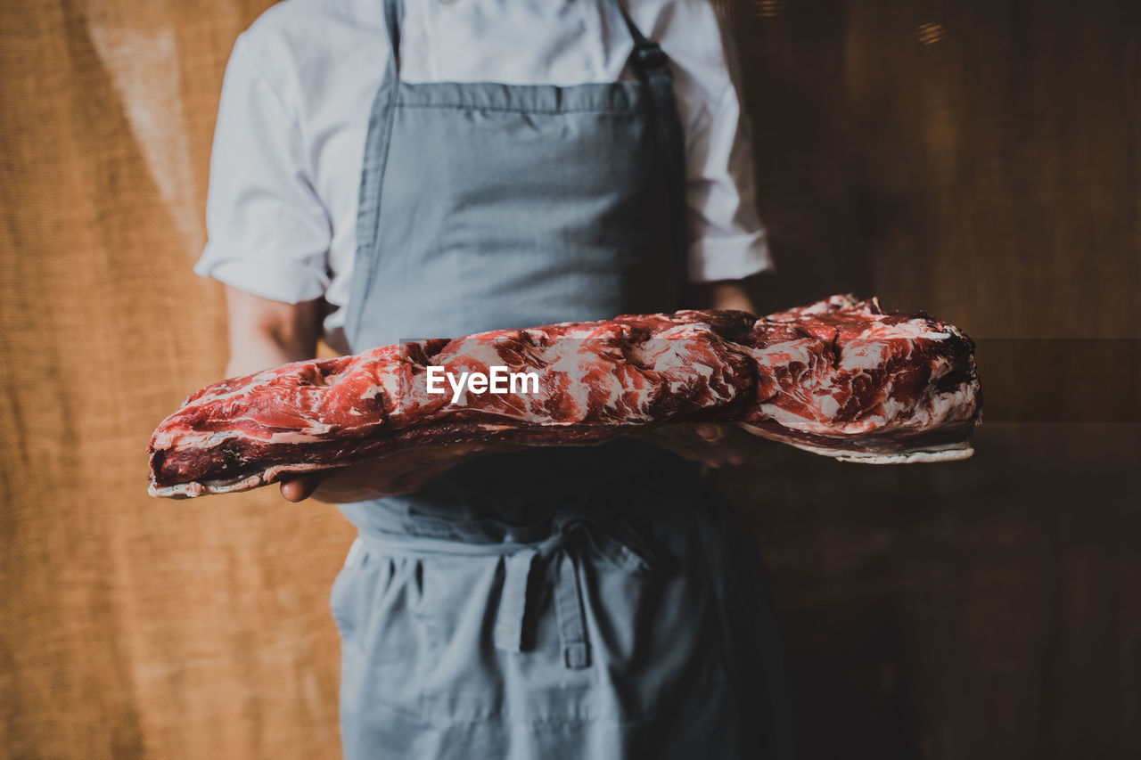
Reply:
[[[385, 1], [354, 351], [680, 307], [681, 124], [618, 3], [637, 81], [575, 87], [402, 82], [400, 13]], [[536, 448], [341, 509], [361, 532], [332, 595], [349, 760], [785, 757], [758, 560], [691, 466]]]

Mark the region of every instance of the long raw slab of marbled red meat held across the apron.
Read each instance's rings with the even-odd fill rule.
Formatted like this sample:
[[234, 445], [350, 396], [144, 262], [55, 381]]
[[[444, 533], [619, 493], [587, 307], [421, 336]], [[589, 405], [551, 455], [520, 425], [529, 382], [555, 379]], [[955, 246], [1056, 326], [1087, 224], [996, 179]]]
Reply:
[[[429, 366], [539, 375], [537, 393], [428, 393]], [[671, 422], [739, 423], [841, 460], [972, 452], [974, 346], [924, 314], [850, 296], [756, 318], [618, 316], [297, 362], [189, 396], [148, 447], [159, 496], [245, 491], [290, 472], [470, 440], [589, 445]]]

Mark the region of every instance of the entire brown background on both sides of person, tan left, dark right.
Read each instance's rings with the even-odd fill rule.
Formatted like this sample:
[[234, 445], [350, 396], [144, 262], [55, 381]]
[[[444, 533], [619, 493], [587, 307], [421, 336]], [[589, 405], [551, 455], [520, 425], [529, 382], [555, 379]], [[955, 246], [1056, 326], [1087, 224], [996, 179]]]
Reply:
[[[337, 758], [339, 514], [145, 495], [225, 364], [203, 242], [268, 0], [0, 2], [0, 758]], [[1141, 757], [1141, 13], [733, 6], [767, 306], [855, 290], [979, 339], [965, 463], [772, 446], [755, 524], [806, 758]]]

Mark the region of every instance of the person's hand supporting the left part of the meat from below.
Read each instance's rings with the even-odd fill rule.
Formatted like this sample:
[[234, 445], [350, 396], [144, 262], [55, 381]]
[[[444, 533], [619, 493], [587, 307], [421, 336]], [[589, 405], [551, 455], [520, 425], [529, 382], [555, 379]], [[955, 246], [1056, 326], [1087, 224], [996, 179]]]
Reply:
[[492, 446], [467, 443], [408, 448], [335, 470], [291, 475], [281, 482], [282, 496], [286, 501], [311, 496], [317, 501], [345, 504], [411, 493], [440, 472], [488, 452]]

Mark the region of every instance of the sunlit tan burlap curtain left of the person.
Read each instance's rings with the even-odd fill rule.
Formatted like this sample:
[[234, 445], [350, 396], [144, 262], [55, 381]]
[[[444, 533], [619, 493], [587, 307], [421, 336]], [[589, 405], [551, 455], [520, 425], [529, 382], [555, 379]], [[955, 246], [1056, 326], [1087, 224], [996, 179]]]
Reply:
[[145, 493], [149, 431], [225, 364], [191, 266], [221, 74], [268, 5], [0, 5], [0, 757], [340, 757], [347, 524]]

